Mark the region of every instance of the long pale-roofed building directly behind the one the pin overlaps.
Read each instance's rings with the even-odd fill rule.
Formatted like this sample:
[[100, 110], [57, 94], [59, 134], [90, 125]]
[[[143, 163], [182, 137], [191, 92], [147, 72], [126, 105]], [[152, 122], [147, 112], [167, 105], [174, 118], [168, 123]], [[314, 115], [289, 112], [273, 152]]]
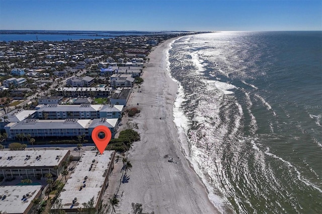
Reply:
[[97, 119], [97, 118], [121, 118], [123, 105], [92, 105], [84, 103], [80, 105], [37, 105], [37, 118], [45, 120], [64, 119]]

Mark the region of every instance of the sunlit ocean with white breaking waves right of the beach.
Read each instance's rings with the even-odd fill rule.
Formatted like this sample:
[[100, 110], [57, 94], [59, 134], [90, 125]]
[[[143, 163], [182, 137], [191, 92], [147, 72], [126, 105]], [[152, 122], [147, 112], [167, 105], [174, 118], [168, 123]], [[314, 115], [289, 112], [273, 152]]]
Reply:
[[322, 210], [322, 32], [181, 37], [178, 142], [222, 213]]

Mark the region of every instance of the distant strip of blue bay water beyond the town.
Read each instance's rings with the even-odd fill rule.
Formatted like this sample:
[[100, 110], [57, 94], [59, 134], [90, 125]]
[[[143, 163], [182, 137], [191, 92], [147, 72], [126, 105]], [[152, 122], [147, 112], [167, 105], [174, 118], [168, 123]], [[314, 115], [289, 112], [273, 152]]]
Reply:
[[5, 31], [0, 30], [0, 41], [67, 41], [79, 39], [108, 39], [117, 36], [172, 34], [178, 32], [148, 31]]

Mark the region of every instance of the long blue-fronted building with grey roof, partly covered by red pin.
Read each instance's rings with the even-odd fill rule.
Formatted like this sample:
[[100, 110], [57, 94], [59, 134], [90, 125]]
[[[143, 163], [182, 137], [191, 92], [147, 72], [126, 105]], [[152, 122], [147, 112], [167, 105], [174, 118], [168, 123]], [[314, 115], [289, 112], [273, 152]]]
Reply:
[[91, 137], [93, 129], [102, 125], [110, 129], [112, 138], [118, 128], [119, 119], [94, 119], [94, 120], [38, 120], [27, 119], [19, 123], [9, 123], [5, 126], [8, 139], [16, 139], [17, 135], [23, 134], [31, 137]]

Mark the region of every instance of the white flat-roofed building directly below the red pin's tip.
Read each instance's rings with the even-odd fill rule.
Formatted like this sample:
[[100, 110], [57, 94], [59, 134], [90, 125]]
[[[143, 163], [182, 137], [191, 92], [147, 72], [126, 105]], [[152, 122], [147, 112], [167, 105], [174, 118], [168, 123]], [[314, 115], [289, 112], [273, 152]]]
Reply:
[[85, 151], [51, 211], [59, 208], [66, 213], [78, 213], [92, 198], [97, 211], [109, 184], [115, 154], [115, 151], [104, 151], [102, 155], [98, 151]]

